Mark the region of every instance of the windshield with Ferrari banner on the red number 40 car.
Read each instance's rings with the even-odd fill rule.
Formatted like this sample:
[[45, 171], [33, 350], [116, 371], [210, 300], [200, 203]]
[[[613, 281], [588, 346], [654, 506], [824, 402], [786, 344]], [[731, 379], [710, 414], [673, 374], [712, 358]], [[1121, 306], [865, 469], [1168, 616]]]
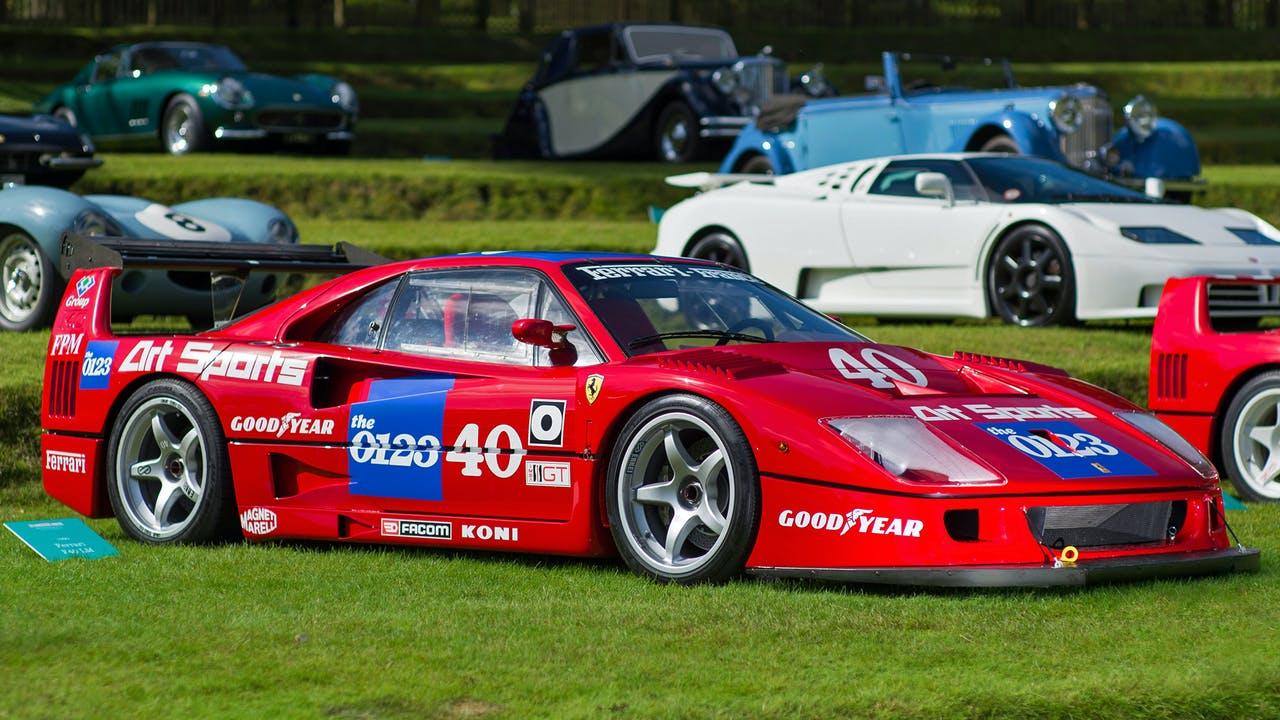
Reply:
[[756, 342], [865, 342], [759, 278], [691, 263], [593, 263], [564, 269], [630, 355]]

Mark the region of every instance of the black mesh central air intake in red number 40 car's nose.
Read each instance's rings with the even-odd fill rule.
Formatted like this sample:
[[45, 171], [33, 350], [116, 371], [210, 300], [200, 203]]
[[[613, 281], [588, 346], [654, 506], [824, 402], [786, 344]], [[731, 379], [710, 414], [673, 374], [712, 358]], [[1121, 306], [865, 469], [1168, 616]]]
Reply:
[[1027, 523], [1046, 547], [1114, 547], [1164, 542], [1187, 518], [1185, 501], [1032, 507]]

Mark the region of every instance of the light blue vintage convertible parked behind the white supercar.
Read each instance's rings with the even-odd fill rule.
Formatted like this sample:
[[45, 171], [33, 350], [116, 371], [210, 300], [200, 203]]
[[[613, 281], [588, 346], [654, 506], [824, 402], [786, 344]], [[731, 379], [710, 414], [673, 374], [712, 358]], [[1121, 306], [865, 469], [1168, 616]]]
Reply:
[[1160, 178], [1176, 192], [1197, 184], [1190, 133], [1140, 95], [1125, 102], [1112, 133], [1111, 104], [1089, 85], [1019, 87], [1007, 60], [982, 59], [970, 77], [998, 77], [1000, 87], [974, 90], [941, 79], [957, 69], [954, 58], [882, 58], [884, 74], [867, 78], [867, 95], [767, 106], [721, 172], [785, 174], [879, 155], [986, 151], [1039, 155], [1129, 184]]

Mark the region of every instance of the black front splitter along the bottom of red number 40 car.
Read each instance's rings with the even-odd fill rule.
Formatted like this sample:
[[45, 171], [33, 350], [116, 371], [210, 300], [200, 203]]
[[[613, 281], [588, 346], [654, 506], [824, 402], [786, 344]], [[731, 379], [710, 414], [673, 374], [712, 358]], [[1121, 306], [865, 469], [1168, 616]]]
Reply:
[[1076, 562], [1075, 565], [1005, 565], [973, 568], [750, 568], [768, 578], [805, 578], [840, 583], [870, 583], [954, 588], [1050, 588], [1153, 578], [1221, 575], [1257, 571], [1262, 553], [1231, 547], [1180, 555], [1143, 555]]

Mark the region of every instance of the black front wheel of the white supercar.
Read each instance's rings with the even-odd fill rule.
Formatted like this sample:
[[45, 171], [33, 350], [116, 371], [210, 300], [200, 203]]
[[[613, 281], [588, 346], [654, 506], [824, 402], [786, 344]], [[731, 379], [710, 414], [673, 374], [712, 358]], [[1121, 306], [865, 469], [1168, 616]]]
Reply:
[[1060, 325], [1075, 318], [1075, 269], [1066, 243], [1046, 225], [1023, 225], [996, 243], [987, 301], [1006, 323]]

